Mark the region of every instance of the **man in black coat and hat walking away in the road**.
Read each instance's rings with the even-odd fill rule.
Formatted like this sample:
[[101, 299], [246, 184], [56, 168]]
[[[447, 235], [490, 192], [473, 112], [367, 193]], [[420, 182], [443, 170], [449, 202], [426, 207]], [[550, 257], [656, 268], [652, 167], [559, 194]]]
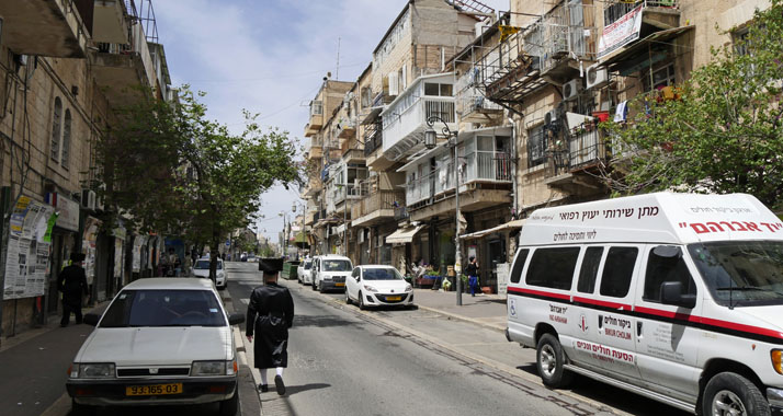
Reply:
[[262, 392], [269, 391], [266, 370], [274, 367], [277, 374], [274, 386], [285, 394], [283, 369], [288, 367], [288, 328], [294, 324], [294, 299], [288, 289], [277, 285], [277, 274], [283, 269], [282, 258], [261, 258], [264, 285], [253, 289], [248, 304], [246, 335], [253, 346], [256, 368], [261, 372]]

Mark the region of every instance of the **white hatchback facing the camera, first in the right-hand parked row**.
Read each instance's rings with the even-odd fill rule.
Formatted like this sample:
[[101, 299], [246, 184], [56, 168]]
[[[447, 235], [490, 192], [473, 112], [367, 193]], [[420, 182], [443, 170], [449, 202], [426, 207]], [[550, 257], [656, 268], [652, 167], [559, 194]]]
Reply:
[[345, 280], [345, 303], [367, 307], [412, 307], [413, 287], [392, 266], [356, 266]]

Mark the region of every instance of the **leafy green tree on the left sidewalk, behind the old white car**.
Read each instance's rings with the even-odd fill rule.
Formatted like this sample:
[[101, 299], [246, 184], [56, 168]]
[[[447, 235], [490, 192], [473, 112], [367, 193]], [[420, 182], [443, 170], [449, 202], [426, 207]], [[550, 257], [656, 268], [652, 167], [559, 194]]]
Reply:
[[132, 227], [208, 243], [214, 276], [217, 247], [245, 228], [274, 184], [300, 182], [287, 132], [262, 129], [245, 113], [240, 135], [206, 117], [186, 86], [178, 103], [144, 100], [122, 112], [118, 128], [98, 146], [106, 203]]

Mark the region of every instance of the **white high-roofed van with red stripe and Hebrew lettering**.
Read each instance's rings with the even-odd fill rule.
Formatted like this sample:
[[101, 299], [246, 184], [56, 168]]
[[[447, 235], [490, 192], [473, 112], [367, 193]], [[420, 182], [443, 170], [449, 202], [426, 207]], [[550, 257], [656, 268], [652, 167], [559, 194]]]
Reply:
[[540, 209], [507, 337], [570, 372], [704, 415], [783, 408], [783, 221], [750, 195], [659, 193]]

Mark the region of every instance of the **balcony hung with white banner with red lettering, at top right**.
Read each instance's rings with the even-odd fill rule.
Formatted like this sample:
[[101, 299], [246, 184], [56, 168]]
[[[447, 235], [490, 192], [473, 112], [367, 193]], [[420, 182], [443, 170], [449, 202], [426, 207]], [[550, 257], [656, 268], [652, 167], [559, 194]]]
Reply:
[[[603, 33], [598, 57], [604, 61], [659, 31], [680, 26], [678, 0], [639, 0], [608, 2], [603, 9]], [[666, 39], [658, 39], [665, 42]]]

